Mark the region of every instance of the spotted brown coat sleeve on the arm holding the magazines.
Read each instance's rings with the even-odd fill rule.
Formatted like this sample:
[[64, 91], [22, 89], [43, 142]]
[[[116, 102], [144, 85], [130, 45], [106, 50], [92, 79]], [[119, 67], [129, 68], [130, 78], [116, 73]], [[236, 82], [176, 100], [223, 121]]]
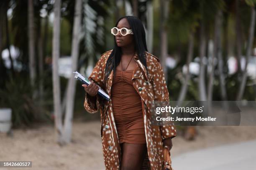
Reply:
[[[103, 56], [100, 57], [100, 60], [96, 63], [91, 75], [88, 77], [91, 82], [95, 82], [101, 88], [104, 86], [102, 62]], [[87, 110], [87, 112], [97, 112], [99, 109], [99, 105], [99, 95], [96, 95], [95, 97], [90, 97], [87, 92], [85, 93], [84, 108], [85, 110]]]

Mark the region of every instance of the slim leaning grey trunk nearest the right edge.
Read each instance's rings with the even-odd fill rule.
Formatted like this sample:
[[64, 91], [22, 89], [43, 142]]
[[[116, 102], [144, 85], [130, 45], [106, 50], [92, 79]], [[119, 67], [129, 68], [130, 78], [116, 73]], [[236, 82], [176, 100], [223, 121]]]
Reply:
[[243, 76], [242, 81], [239, 87], [238, 95], [236, 97], [236, 100], [241, 100], [243, 97], [243, 92], [246, 86], [246, 80], [247, 80], [247, 65], [248, 60], [251, 57], [251, 49], [253, 45], [253, 38], [254, 38], [254, 31], [255, 31], [255, 8], [251, 7], [251, 22], [250, 22], [250, 28], [249, 28], [249, 35], [248, 35], [248, 43], [247, 43], [247, 49], [246, 49], [246, 64], [245, 68], [243, 70]]

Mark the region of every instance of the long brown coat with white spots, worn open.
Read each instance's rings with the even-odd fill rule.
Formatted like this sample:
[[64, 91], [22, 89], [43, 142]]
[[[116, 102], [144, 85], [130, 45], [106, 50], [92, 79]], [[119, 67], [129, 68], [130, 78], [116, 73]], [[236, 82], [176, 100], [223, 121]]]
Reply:
[[[89, 80], [96, 82], [101, 87], [104, 87], [105, 66], [112, 50], [103, 53], [100, 60], [92, 70]], [[166, 138], [173, 138], [176, 136], [176, 129], [174, 125], [157, 126], [151, 125], [150, 112], [151, 104], [154, 101], [168, 101], [169, 92], [166, 87], [163, 70], [160, 65], [160, 60], [146, 52], [146, 62], [148, 67], [148, 77], [146, 68], [138, 60], [138, 56], [134, 56], [137, 62], [136, 68], [133, 70], [133, 87], [141, 96], [142, 112], [144, 119], [144, 127], [146, 133], [146, 142], [148, 150], [148, 159], [144, 160], [144, 165], [148, 165], [148, 170], [163, 169], [163, 142]], [[106, 92], [110, 95], [110, 90], [113, 81], [113, 70], [108, 76]], [[100, 107], [102, 106], [102, 107]], [[104, 108], [103, 108], [104, 107]], [[85, 95], [84, 108], [90, 112], [95, 113], [100, 109], [101, 117], [101, 135], [102, 135], [102, 149], [104, 163], [107, 170], [119, 170], [121, 161], [120, 145], [118, 140], [118, 133], [115, 126], [113, 115], [113, 107], [110, 101], [105, 100], [105, 104], [101, 105], [98, 96], [97, 102], [92, 103]], [[149, 160], [149, 162], [148, 162]], [[147, 163], [146, 163], [147, 161]]]

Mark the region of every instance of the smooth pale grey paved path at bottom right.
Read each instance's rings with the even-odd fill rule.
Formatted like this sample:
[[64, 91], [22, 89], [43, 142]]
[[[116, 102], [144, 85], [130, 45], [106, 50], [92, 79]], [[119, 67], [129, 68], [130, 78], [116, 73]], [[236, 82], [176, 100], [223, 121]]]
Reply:
[[256, 140], [172, 157], [174, 170], [256, 170]]

